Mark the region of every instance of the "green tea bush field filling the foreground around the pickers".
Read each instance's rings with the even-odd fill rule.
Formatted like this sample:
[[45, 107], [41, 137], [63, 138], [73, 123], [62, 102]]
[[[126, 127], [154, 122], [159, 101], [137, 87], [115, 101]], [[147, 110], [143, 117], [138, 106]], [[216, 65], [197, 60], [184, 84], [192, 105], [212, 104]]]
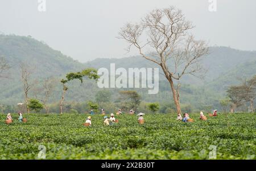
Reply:
[[[24, 114], [27, 123], [5, 124], [0, 114], [0, 159], [38, 159], [40, 145], [46, 159], [256, 159], [256, 115], [224, 114], [193, 123], [176, 121], [176, 114], [116, 116], [119, 123], [104, 126], [103, 117], [85, 114]], [[212, 145], [212, 146], [211, 146]], [[41, 151], [42, 152], [42, 151]]]

